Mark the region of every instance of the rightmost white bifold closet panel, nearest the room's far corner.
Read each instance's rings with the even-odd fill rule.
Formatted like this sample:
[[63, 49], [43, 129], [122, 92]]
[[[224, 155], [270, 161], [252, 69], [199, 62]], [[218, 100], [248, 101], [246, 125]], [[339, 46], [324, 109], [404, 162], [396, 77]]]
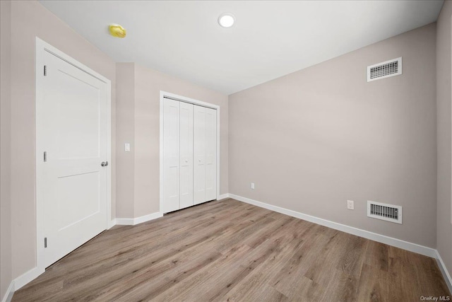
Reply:
[[217, 110], [206, 108], [206, 201], [217, 198]]

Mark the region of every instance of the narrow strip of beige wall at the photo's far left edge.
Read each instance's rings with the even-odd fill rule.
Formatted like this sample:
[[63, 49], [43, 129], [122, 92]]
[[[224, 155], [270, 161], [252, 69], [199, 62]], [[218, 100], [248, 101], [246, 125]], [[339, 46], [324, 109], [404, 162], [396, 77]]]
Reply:
[[0, 298], [11, 265], [11, 2], [0, 1]]

